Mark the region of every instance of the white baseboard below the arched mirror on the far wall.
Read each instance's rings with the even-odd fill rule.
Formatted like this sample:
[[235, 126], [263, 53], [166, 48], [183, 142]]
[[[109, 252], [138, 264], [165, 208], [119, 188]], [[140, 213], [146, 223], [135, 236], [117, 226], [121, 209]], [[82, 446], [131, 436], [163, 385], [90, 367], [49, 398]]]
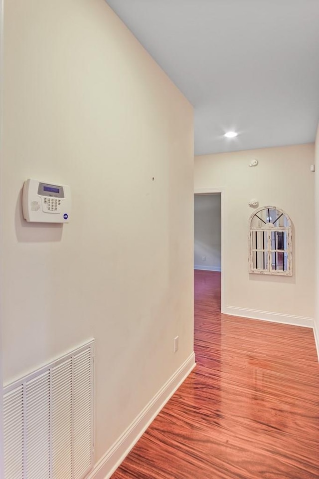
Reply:
[[257, 309], [235, 308], [233, 306], [226, 307], [226, 314], [231, 316], [240, 316], [250, 319], [262, 319], [263, 321], [271, 321], [273, 323], [292, 324], [294, 326], [304, 326], [307, 328], [314, 327], [313, 318], [305, 318], [302, 316], [292, 316], [289, 314], [272, 313], [269, 311], [258, 311]]

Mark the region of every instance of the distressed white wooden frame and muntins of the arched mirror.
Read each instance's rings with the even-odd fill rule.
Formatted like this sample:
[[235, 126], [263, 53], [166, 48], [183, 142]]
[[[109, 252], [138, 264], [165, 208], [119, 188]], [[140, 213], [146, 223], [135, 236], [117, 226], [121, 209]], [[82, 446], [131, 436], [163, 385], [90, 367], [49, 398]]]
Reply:
[[[280, 212], [282, 215], [286, 217], [287, 224], [288, 226], [285, 227], [279, 227], [279, 226], [274, 226], [273, 223], [269, 222], [266, 223], [265, 225], [256, 228], [252, 226], [252, 221], [258, 213], [260, 213], [263, 210], [277, 210]], [[258, 216], [257, 216], [258, 218]], [[261, 249], [261, 251], [267, 251], [268, 255], [268, 261], [267, 261], [267, 269], [258, 269], [254, 267], [254, 258], [253, 254], [258, 251], [257, 244], [256, 248], [253, 247], [253, 233], [256, 231], [266, 231], [268, 235], [268, 241], [267, 241], [267, 250], [266, 249]], [[286, 232], [287, 234], [287, 249], [285, 250], [287, 252], [287, 270], [273, 270], [272, 269], [272, 253], [276, 252], [277, 250], [271, 249], [271, 232]], [[293, 257], [292, 257], [292, 222], [289, 217], [289, 215], [282, 210], [281, 208], [277, 208], [276, 206], [263, 206], [261, 208], [258, 208], [258, 210], [255, 210], [254, 213], [250, 216], [249, 218], [249, 232], [248, 232], [248, 264], [249, 264], [249, 273], [254, 273], [254, 274], [272, 274], [275, 276], [292, 276], [293, 274]], [[256, 264], [257, 265], [257, 264]]]

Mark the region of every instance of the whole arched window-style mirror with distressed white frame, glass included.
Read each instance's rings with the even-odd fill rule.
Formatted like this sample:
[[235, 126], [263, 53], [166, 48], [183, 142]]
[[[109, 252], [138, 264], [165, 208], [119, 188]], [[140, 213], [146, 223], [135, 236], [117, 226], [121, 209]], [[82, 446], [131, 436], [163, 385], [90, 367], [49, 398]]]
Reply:
[[249, 220], [249, 272], [291, 276], [292, 225], [275, 206], [258, 209]]

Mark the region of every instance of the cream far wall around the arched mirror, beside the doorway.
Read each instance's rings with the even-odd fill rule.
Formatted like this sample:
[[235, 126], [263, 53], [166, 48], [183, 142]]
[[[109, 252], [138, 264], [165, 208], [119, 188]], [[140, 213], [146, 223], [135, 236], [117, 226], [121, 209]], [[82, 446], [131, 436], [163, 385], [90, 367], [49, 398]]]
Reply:
[[[259, 165], [248, 167], [254, 158]], [[195, 158], [195, 190], [226, 188], [227, 307], [314, 317], [313, 163], [313, 144]], [[253, 198], [259, 200], [260, 206], [284, 209], [292, 219], [292, 277], [248, 273], [248, 219], [253, 212], [248, 202]]]

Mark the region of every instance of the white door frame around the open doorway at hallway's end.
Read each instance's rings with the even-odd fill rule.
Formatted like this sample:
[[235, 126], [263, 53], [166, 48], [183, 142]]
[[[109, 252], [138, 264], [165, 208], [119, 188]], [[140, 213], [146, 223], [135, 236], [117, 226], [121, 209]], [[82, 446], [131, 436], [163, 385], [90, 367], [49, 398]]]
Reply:
[[195, 195], [213, 195], [220, 193], [221, 203], [221, 291], [220, 291], [220, 310], [226, 314], [226, 188], [195, 188]]

